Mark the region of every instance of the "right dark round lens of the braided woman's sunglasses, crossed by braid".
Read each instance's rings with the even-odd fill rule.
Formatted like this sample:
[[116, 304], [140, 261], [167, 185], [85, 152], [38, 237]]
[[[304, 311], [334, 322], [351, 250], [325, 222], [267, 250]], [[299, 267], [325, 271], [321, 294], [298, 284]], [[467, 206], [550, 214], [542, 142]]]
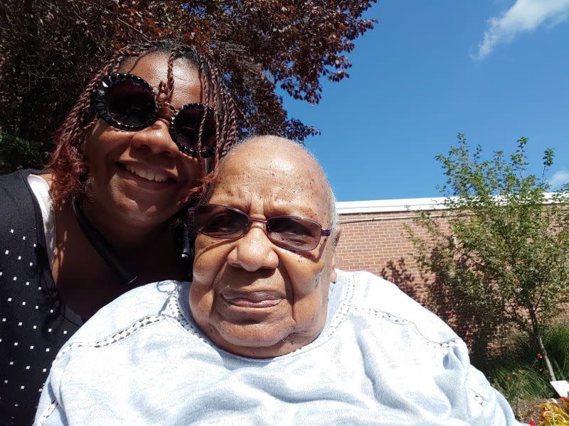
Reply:
[[213, 113], [206, 109], [206, 119], [201, 130], [201, 145], [198, 144], [198, 135], [203, 119], [203, 107], [188, 105], [181, 109], [174, 121], [176, 141], [182, 147], [198, 151], [216, 146], [216, 122]]

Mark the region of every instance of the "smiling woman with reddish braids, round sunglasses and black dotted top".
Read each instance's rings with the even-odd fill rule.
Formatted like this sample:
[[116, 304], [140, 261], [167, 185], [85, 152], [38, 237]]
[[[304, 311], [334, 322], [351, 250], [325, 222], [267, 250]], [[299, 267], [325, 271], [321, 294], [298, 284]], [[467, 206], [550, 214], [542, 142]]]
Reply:
[[209, 60], [163, 40], [115, 53], [54, 141], [46, 172], [0, 178], [1, 424], [31, 423], [55, 354], [102, 306], [188, 279], [176, 216], [234, 143], [235, 113]]

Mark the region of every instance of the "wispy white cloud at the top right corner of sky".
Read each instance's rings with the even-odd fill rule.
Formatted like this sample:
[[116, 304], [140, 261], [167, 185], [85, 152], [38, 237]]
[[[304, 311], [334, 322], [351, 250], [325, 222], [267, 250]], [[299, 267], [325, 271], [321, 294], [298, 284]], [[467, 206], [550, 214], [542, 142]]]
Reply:
[[555, 26], [569, 18], [569, 0], [516, 0], [499, 18], [490, 18], [490, 28], [472, 58], [482, 60], [499, 43], [510, 43], [517, 35], [533, 31], [543, 23]]

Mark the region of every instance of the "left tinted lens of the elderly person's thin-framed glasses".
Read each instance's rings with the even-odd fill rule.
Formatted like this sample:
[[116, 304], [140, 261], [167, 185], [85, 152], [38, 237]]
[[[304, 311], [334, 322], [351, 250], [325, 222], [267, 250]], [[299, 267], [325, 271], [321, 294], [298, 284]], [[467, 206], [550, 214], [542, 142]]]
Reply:
[[247, 231], [248, 222], [237, 210], [211, 204], [197, 207], [193, 214], [194, 229], [214, 238], [238, 238]]

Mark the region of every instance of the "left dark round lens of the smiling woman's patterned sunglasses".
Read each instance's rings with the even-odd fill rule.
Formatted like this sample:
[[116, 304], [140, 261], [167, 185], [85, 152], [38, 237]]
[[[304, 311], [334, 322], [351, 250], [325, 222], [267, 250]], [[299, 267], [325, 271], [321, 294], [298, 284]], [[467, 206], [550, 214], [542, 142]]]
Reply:
[[107, 111], [117, 124], [145, 127], [155, 117], [154, 95], [150, 87], [122, 80], [107, 89]]

